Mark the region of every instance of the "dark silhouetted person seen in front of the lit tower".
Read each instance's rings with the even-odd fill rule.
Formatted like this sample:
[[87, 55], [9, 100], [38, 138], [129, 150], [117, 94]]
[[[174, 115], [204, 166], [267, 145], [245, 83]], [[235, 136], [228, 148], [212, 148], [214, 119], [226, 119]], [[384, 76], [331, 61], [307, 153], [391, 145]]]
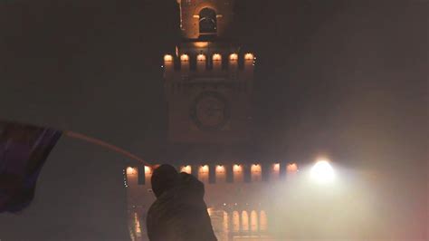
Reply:
[[151, 178], [157, 200], [148, 210], [151, 241], [217, 240], [204, 201], [204, 184], [187, 173], [161, 165]]

